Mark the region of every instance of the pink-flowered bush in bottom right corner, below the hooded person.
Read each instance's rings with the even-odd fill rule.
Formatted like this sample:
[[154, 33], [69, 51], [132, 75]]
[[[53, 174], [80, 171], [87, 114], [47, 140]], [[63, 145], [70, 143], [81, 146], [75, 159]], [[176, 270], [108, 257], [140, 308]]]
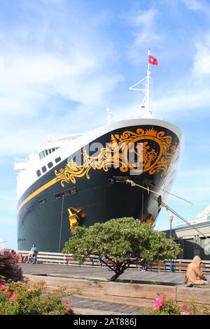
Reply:
[[162, 295], [155, 298], [153, 309], [146, 311], [146, 315], [210, 315], [210, 309], [207, 304], [197, 306], [193, 301], [179, 307], [175, 300]]

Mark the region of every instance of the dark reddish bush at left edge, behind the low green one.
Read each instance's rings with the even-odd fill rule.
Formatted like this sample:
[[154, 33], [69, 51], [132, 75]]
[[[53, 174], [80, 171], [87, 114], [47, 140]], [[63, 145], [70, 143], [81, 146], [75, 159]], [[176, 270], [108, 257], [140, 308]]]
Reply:
[[23, 281], [22, 269], [18, 266], [18, 255], [13, 250], [4, 249], [0, 254], [0, 276], [5, 280]]

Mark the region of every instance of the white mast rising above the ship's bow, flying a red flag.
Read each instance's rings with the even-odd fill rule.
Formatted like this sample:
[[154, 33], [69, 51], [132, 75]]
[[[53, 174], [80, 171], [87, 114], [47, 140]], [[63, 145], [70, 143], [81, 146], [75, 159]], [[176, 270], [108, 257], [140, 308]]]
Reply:
[[[148, 59], [151, 55], [151, 50], [148, 48]], [[137, 111], [135, 118], [144, 117], [144, 118], [155, 118], [155, 115], [153, 114], [153, 111], [151, 109], [151, 89], [152, 89], [152, 80], [151, 77], [151, 64], [148, 61], [147, 64], [147, 72], [146, 77], [139, 80], [135, 85], [132, 85], [130, 87], [130, 90], [139, 90], [141, 92], [144, 92], [145, 96], [143, 101], [141, 102], [140, 109]], [[138, 85], [143, 84], [145, 87], [139, 88]]]

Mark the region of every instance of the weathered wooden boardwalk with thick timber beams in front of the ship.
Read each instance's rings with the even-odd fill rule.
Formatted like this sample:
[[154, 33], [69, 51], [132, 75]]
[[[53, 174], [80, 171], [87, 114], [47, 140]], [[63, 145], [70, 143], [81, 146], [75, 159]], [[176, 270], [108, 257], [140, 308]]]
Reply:
[[[185, 273], [127, 269], [118, 281], [109, 282], [105, 267], [55, 264], [20, 264], [31, 281], [44, 280], [48, 289], [66, 287], [65, 299], [76, 314], [144, 314], [153, 300], [165, 293], [179, 304], [194, 300], [210, 305], [210, 286], [187, 288]], [[210, 280], [210, 274], [207, 274]], [[73, 294], [73, 296], [72, 296]]]

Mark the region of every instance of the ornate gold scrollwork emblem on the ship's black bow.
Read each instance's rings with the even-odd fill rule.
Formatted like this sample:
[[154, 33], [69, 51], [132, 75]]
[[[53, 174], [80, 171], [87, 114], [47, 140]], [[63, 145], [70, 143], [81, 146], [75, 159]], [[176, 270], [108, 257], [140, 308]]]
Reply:
[[[86, 148], [83, 148], [83, 165], [77, 165], [71, 158], [64, 169], [59, 169], [59, 172], [55, 170], [55, 176], [63, 187], [64, 183], [74, 184], [83, 176], [90, 179], [90, 169], [108, 172], [110, 167], [114, 167], [119, 168], [120, 172], [135, 170], [136, 174], [148, 172], [150, 175], [161, 171], [161, 176], [165, 176], [175, 151], [176, 143], [172, 145], [172, 137], [165, 136], [165, 132], [158, 132], [153, 127], [147, 130], [139, 128], [136, 132], [111, 134], [111, 142], [95, 156], [88, 155]], [[130, 154], [133, 160], [130, 160]], [[139, 162], [134, 162], [139, 154]]]

